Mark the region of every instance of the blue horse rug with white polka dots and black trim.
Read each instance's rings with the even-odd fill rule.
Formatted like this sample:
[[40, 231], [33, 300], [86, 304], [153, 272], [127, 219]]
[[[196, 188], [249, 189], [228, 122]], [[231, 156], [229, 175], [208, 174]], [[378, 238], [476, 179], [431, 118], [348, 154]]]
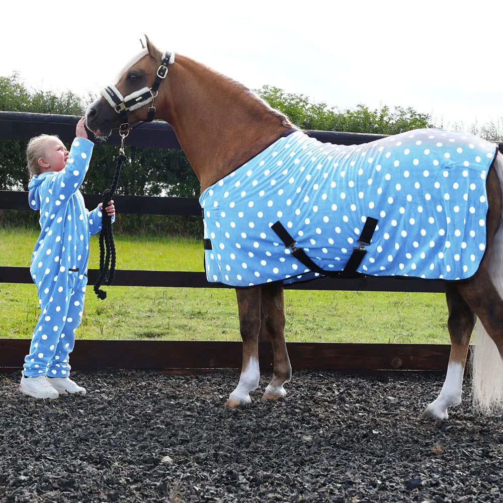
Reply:
[[485, 251], [496, 153], [494, 143], [438, 129], [362, 145], [295, 131], [201, 194], [207, 279], [467, 279]]

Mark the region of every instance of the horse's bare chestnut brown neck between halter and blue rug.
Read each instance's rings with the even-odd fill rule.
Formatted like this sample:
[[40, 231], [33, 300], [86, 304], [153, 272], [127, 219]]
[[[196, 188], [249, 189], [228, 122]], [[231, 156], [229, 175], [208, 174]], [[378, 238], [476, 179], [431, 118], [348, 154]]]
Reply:
[[274, 142], [290, 123], [238, 83], [178, 56], [169, 72], [165, 120], [201, 183], [214, 184]]

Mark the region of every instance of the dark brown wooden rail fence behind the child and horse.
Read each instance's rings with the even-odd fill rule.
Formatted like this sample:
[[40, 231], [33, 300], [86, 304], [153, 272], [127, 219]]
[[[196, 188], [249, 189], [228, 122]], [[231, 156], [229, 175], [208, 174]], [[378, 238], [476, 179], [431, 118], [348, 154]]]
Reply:
[[[0, 138], [28, 139], [41, 133], [57, 134], [64, 142], [74, 137], [78, 117], [0, 112]], [[339, 144], [366, 143], [383, 135], [310, 131], [320, 141]], [[94, 140], [92, 134], [90, 139]], [[119, 144], [117, 135], [108, 145]], [[143, 124], [127, 138], [128, 146], [180, 148], [176, 135], [163, 122]], [[22, 153], [20, 152], [20, 155]], [[1, 162], [1, 160], [0, 160]], [[84, 195], [87, 207], [95, 207], [101, 196]], [[200, 215], [196, 198], [115, 196], [118, 212], [155, 215]], [[26, 192], [0, 191], [0, 210], [29, 209]], [[1, 231], [0, 231], [1, 232]], [[2, 236], [0, 234], [0, 240]], [[202, 246], [202, 243], [201, 243]], [[98, 271], [89, 270], [89, 283], [94, 284]], [[0, 283], [32, 283], [28, 267], [0, 267]], [[208, 283], [204, 272], [117, 270], [116, 286], [156, 286], [190, 288], [228, 288]], [[417, 281], [407, 278], [319, 278], [309, 283], [290, 285], [291, 289], [359, 290], [392, 292], [444, 292], [442, 281]], [[236, 306], [237, 309], [237, 306]], [[1, 328], [1, 327], [0, 327]], [[355, 327], [355, 330], [361, 330]], [[0, 336], [2, 332], [0, 330]], [[261, 338], [260, 365], [272, 366], [272, 349]], [[27, 339], [0, 339], [0, 369], [20, 368], [29, 347]], [[449, 355], [448, 345], [423, 344], [335, 344], [288, 343], [294, 368], [341, 370], [444, 370]], [[72, 353], [74, 369], [142, 368], [142, 369], [212, 369], [237, 368], [241, 365], [241, 343], [206, 341], [85, 341], [77, 340]]]

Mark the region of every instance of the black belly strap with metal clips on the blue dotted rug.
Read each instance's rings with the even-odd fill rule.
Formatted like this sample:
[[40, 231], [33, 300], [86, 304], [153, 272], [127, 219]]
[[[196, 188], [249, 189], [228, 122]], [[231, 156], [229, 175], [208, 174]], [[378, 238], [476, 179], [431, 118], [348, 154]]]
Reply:
[[324, 269], [321, 269], [307, 256], [302, 248], [297, 248], [297, 246], [295, 246], [295, 239], [288, 233], [285, 227], [283, 227], [281, 222], [273, 224], [271, 229], [273, 229], [278, 237], [283, 241], [285, 248], [290, 248], [292, 250], [292, 255], [309, 270], [333, 278], [354, 278], [357, 275], [356, 270], [358, 269], [358, 266], [361, 264], [363, 257], [367, 253], [365, 246], [370, 244], [376, 226], [377, 219], [367, 217], [362, 233], [358, 239], [360, 246], [358, 248], [353, 248], [353, 253], [342, 271], [325, 271]]

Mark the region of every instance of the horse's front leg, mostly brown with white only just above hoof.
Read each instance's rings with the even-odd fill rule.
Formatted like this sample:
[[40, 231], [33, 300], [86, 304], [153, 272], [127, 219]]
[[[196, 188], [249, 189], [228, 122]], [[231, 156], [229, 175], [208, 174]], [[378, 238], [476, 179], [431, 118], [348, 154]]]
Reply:
[[283, 283], [268, 283], [262, 286], [262, 308], [265, 326], [271, 338], [274, 353], [273, 378], [262, 399], [277, 400], [286, 396], [283, 385], [292, 377], [292, 367], [285, 342]]

